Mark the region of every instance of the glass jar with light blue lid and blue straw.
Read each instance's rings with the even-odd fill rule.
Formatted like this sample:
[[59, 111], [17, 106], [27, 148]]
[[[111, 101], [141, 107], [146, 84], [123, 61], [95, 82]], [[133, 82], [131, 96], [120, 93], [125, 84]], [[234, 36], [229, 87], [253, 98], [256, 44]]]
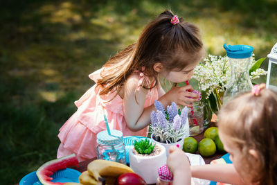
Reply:
[[107, 130], [97, 134], [96, 152], [98, 159], [115, 161], [126, 164], [125, 146], [123, 133], [119, 130], [109, 130], [107, 118], [104, 115]]

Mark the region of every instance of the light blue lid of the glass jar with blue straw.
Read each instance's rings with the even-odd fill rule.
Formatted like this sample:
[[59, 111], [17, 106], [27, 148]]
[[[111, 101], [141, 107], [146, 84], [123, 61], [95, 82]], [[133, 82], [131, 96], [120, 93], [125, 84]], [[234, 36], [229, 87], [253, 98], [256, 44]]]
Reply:
[[119, 130], [110, 130], [111, 135], [104, 130], [97, 134], [97, 143], [105, 146], [113, 146], [123, 142], [123, 134]]

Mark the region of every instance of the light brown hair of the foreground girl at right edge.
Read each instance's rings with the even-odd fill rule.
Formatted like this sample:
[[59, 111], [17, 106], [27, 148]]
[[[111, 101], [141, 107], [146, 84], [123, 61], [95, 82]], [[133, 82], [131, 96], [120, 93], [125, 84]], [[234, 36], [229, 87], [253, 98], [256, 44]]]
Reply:
[[[220, 109], [218, 126], [242, 152], [242, 163], [252, 182], [277, 182], [277, 94], [262, 89], [259, 96], [242, 94]], [[254, 149], [260, 166], [249, 155]]]

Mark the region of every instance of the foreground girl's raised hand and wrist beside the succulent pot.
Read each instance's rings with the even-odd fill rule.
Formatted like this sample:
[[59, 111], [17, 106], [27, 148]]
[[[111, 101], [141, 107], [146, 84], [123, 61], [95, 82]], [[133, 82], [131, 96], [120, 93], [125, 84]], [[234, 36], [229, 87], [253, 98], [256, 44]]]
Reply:
[[188, 161], [188, 157], [186, 157], [185, 152], [176, 146], [171, 146], [169, 152], [170, 155], [168, 156], [167, 164], [174, 176], [173, 185], [190, 184], [190, 162]]

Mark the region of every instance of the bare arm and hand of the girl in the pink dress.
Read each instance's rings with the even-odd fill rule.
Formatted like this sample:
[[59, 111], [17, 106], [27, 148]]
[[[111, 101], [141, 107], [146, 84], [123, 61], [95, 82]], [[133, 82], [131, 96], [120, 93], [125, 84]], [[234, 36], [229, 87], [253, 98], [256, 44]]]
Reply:
[[[127, 123], [127, 127], [129, 127], [132, 131], [141, 130], [149, 125], [150, 114], [153, 110], [155, 110], [154, 105], [144, 108], [146, 94], [148, 94], [149, 90], [144, 89], [143, 87], [137, 90], [139, 80], [139, 76], [132, 75], [126, 80], [124, 86], [124, 118]], [[198, 98], [197, 94], [187, 91], [192, 89], [193, 87], [187, 85], [185, 87], [174, 87], [166, 94], [163, 94], [163, 92], [160, 91], [163, 96], [161, 96], [158, 100], [163, 104], [163, 107], [171, 105], [172, 101], [175, 101], [177, 105], [192, 106], [186, 103], [196, 101]], [[187, 98], [187, 96], [191, 96], [193, 98]]]

